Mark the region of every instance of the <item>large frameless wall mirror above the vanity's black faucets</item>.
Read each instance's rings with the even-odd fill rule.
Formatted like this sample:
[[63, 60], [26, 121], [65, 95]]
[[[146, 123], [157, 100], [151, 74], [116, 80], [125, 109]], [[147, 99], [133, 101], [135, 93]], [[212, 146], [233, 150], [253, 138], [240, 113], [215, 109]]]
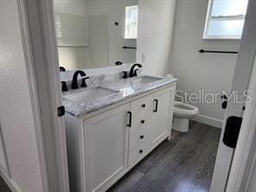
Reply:
[[54, 0], [54, 22], [66, 70], [136, 61], [138, 0]]

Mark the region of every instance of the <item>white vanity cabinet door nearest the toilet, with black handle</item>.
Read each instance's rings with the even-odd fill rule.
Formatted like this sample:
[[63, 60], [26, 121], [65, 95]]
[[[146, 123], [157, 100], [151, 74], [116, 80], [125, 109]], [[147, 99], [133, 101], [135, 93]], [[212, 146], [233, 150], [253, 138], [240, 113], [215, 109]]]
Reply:
[[151, 144], [156, 147], [164, 138], [170, 136], [173, 97], [175, 86], [154, 94], [154, 106], [150, 124]]

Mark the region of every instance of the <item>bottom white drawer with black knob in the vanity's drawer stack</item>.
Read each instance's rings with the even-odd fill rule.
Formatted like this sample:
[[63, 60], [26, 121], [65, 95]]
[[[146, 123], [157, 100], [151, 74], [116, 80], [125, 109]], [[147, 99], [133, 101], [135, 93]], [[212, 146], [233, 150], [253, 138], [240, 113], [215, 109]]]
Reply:
[[135, 147], [133, 150], [129, 153], [129, 166], [134, 165], [135, 163], [138, 163], [145, 155], [147, 154], [149, 150], [148, 144], [146, 142], [139, 144], [137, 147]]

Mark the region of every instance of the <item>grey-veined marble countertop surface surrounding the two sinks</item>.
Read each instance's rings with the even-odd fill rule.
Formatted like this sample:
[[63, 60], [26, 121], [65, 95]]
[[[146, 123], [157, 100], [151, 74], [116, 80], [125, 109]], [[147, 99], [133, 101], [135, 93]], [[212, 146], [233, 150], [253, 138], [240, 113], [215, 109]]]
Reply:
[[[98, 82], [97, 84], [91, 85], [86, 88], [72, 90], [67, 93], [63, 93], [63, 105], [66, 108], [66, 112], [74, 115], [75, 117], [81, 117], [88, 114], [89, 112], [95, 112], [106, 106], [111, 106], [118, 102], [124, 101], [125, 99], [130, 99], [132, 97], [138, 96], [139, 94], [150, 92], [158, 87], [174, 83], [177, 80], [176, 78], [155, 77], [149, 75], [147, 75], [147, 77], [157, 78], [157, 80], [149, 83], [142, 83], [139, 80], [140, 77], [135, 77], [115, 81], [106, 81], [101, 83]], [[113, 93], [100, 98], [88, 100], [87, 102], [80, 103], [75, 102], [72, 99], [67, 99], [67, 96], [70, 94], [81, 93], [84, 91], [86, 92], [87, 90], [93, 89], [95, 87], [112, 90]]]

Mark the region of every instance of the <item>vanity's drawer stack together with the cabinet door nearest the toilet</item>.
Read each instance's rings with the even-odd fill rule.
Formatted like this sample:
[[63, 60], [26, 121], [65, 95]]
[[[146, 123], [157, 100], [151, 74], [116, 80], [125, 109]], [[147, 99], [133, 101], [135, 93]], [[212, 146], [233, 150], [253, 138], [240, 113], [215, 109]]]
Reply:
[[175, 86], [170, 86], [131, 102], [130, 166], [170, 137], [174, 92]]

